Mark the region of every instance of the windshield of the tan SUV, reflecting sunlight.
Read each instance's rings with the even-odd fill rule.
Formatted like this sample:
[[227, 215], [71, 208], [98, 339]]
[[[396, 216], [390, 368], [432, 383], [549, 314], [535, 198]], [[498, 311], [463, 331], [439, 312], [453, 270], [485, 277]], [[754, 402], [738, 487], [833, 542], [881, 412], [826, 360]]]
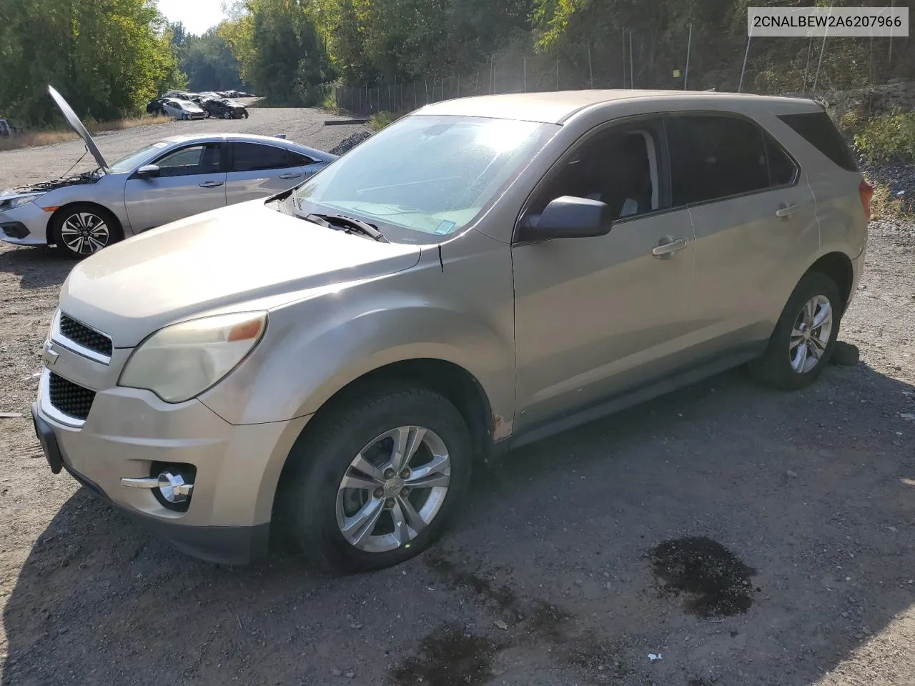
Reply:
[[405, 117], [299, 187], [296, 209], [343, 212], [378, 226], [392, 241], [439, 241], [489, 207], [558, 128], [476, 117]]

